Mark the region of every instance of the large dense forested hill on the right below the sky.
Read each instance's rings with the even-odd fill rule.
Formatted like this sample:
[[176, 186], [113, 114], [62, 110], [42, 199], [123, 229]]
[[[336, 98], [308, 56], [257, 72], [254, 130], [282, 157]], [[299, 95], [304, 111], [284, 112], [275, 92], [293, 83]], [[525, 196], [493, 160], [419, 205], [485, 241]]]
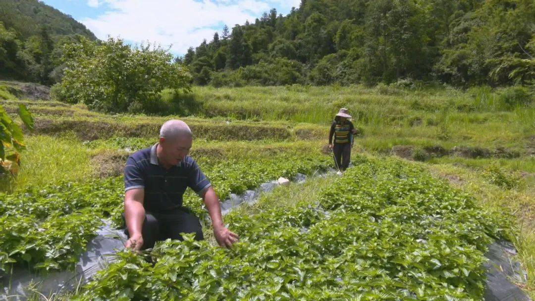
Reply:
[[214, 86], [495, 86], [532, 84], [534, 57], [533, 0], [302, 0], [287, 16], [225, 28], [182, 60]]

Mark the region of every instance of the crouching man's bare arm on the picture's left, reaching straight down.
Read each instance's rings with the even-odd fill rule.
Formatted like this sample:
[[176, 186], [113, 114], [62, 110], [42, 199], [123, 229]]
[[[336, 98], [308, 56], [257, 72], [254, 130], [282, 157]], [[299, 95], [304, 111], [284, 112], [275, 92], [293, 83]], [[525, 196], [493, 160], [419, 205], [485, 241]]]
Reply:
[[134, 188], [125, 192], [125, 221], [130, 236], [126, 243], [126, 248], [140, 250], [143, 245], [141, 229], [145, 219], [144, 196], [145, 191], [143, 188]]

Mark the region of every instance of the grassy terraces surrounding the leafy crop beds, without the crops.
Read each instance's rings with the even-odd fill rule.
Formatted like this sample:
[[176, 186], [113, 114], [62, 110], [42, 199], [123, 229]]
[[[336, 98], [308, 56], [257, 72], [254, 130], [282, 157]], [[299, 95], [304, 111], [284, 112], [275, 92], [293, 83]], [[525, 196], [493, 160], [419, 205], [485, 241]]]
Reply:
[[[120, 175], [127, 154], [150, 146], [159, 126], [177, 117], [107, 115], [80, 105], [17, 99], [14, 94], [7, 95], [9, 89], [2, 91], [7, 112], [25, 103], [36, 119], [35, 132], [25, 137], [27, 150], [22, 153], [17, 179], [3, 184], [13, 195], [59, 183], [76, 183], [91, 191], [91, 183], [111, 181], [111, 190], [105, 194], [112, 194], [113, 202], [105, 205], [117, 206], [121, 183], [112, 179]], [[533, 106], [507, 106], [500, 91], [487, 88], [196, 87], [192, 95], [184, 97], [196, 102], [195, 116], [180, 117], [196, 137], [191, 155], [212, 173], [225, 191], [222, 195], [243, 189], [228, 184], [242, 179], [218, 178], [218, 171], [241, 175], [250, 166], [267, 169], [265, 166], [276, 166], [278, 158], [299, 160], [302, 156], [311, 156], [320, 165], [330, 164], [330, 158], [323, 154], [328, 125], [339, 107], [348, 107], [362, 130], [354, 153], [371, 156], [377, 166], [392, 160], [392, 155], [418, 161], [409, 166], [421, 168], [433, 179], [445, 179], [473, 196], [478, 210], [513, 215], [509, 221], [518, 228], [513, 241], [518, 259], [528, 271], [523, 288], [535, 297]], [[243, 166], [247, 167], [239, 161], [246, 162]], [[261, 164], [255, 167], [255, 161]], [[301, 167], [280, 166], [265, 179]], [[251, 185], [259, 181], [252, 175], [243, 180]], [[318, 179], [307, 184], [310, 186], [281, 188], [240, 211], [254, 215], [282, 205], [299, 207], [307, 200], [318, 200], [320, 191], [328, 190], [333, 181]], [[65, 259], [62, 266], [68, 262]]]

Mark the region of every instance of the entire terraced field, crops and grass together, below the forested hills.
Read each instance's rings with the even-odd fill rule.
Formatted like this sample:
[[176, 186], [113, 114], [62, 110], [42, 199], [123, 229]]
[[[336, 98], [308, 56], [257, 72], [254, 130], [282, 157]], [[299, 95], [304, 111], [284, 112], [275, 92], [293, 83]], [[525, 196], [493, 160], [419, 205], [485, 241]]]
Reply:
[[[288, 98], [287, 109], [269, 115], [258, 104], [232, 113], [250, 92], [272, 99], [269, 89], [278, 99]], [[362, 112], [354, 167], [342, 177], [277, 188], [225, 215], [241, 237], [231, 250], [216, 246], [207, 223], [203, 242], [166, 241], [141, 255], [119, 252], [115, 263], [77, 292], [48, 298], [480, 300], [484, 254], [494, 240], [515, 244], [516, 260], [527, 273], [519, 284], [533, 296], [532, 108], [475, 106], [465, 112], [460, 104], [471, 104], [471, 98], [458, 91], [411, 96], [358, 90], [365, 94], [353, 97], [354, 90], [339, 90], [343, 99], [333, 101], [316, 88], [295, 89], [194, 89], [205, 108], [218, 105], [221, 111], [207, 109], [219, 112], [210, 118], [202, 112], [181, 117], [194, 132], [190, 155], [220, 199], [280, 176], [331, 167], [323, 116], [345, 104]], [[220, 93], [229, 96], [211, 97]], [[310, 101], [301, 97], [307, 93]], [[288, 109], [292, 103], [312, 107], [324, 96], [325, 108], [316, 104], [323, 109], [314, 118], [304, 118], [310, 116], [304, 109]], [[102, 219], [120, 226], [124, 162], [155, 143], [161, 124], [174, 118], [106, 115], [14, 97], [2, 106], [14, 113], [18, 103], [33, 113], [35, 131], [26, 133], [20, 172], [4, 179], [0, 195], [3, 281], [13, 267], [44, 276], [73, 269]], [[385, 104], [399, 114], [384, 111]], [[456, 109], [429, 109], [440, 106]], [[191, 191], [185, 204], [206, 214]]]

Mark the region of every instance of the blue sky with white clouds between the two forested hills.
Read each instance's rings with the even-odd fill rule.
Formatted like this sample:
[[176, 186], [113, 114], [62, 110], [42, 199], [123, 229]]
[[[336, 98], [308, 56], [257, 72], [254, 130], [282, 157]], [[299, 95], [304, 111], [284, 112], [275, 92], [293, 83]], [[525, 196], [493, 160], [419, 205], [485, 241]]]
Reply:
[[232, 28], [273, 7], [286, 15], [300, 0], [43, 0], [70, 14], [101, 40], [120, 37], [131, 44], [157, 43], [184, 55], [223, 25]]

